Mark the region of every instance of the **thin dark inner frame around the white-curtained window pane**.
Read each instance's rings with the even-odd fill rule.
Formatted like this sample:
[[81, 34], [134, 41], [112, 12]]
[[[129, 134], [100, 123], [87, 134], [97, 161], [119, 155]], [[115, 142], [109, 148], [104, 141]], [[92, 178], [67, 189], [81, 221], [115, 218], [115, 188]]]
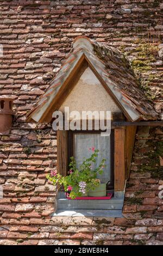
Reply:
[[[70, 157], [74, 156], [74, 135], [78, 133], [101, 133], [100, 130], [86, 130], [86, 131], [68, 131], [67, 134], [67, 174], [68, 170], [70, 170], [69, 164], [70, 164]], [[111, 153], [111, 182], [107, 185], [107, 190], [114, 190], [114, 129], [111, 129], [111, 135], [110, 135], [110, 153]]]

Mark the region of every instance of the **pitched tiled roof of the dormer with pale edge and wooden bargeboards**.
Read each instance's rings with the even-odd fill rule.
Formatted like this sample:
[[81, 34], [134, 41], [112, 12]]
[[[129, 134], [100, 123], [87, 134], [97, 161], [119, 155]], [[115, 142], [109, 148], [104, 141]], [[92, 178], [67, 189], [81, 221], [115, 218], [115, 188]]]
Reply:
[[[91, 68], [129, 121], [156, 120], [153, 105], [147, 99], [123, 53], [86, 36], [78, 36], [70, 53], [49, 87], [27, 114], [27, 121], [49, 122], [52, 113], [71, 92], [70, 83], [82, 66]], [[84, 68], [83, 68], [84, 70]], [[69, 88], [68, 88], [69, 87]]]

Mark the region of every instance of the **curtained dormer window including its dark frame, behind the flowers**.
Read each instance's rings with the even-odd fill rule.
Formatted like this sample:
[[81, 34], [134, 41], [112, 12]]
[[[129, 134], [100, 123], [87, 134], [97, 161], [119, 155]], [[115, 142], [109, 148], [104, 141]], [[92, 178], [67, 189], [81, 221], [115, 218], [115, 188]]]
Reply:
[[[114, 189], [114, 130], [110, 136], [101, 136], [101, 131], [68, 131], [68, 164], [70, 157], [74, 156], [77, 162], [77, 167], [83, 162], [84, 157], [90, 157], [93, 148], [99, 150], [99, 155], [96, 168], [101, 160], [106, 159], [103, 174], [98, 176], [101, 182], [106, 183], [107, 190]], [[68, 168], [68, 167], [67, 167]], [[69, 168], [68, 168], [69, 169]]]

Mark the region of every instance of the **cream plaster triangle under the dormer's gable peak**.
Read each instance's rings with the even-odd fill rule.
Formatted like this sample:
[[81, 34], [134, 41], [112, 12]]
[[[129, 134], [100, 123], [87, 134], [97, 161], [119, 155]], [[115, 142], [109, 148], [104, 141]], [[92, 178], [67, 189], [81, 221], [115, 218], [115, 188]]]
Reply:
[[59, 110], [64, 112], [64, 107], [80, 114], [82, 111], [121, 112], [90, 68], [84, 71]]

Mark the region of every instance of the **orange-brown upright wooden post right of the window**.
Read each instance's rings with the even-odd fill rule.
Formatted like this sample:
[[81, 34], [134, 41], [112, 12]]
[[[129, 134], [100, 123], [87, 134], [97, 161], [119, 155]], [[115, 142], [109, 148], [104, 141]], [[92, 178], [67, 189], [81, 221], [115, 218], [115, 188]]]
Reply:
[[125, 130], [115, 129], [114, 190], [123, 191], [125, 176]]

